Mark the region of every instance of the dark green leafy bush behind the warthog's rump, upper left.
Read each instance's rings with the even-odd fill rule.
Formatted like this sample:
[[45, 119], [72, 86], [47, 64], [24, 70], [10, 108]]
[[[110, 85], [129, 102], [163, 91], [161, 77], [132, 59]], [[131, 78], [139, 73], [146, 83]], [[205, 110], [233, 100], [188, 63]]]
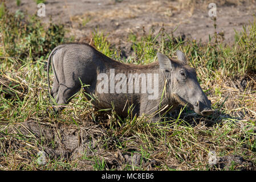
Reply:
[[6, 9], [4, 12], [0, 13], [0, 31], [8, 57], [27, 60], [30, 53], [33, 60], [46, 57], [65, 40], [63, 24], [46, 26], [36, 15], [29, 16], [21, 11], [10, 13]]

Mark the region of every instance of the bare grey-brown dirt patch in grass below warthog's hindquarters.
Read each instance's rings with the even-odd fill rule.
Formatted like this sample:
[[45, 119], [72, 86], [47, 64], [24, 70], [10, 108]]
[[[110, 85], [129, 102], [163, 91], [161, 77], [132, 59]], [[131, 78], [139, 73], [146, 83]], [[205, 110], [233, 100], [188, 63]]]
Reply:
[[85, 148], [94, 149], [104, 131], [95, 123], [86, 122], [84, 126], [67, 127], [65, 125], [27, 121], [18, 123], [23, 135], [33, 135], [44, 145], [43, 150], [52, 158], [76, 159], [83, 155]]

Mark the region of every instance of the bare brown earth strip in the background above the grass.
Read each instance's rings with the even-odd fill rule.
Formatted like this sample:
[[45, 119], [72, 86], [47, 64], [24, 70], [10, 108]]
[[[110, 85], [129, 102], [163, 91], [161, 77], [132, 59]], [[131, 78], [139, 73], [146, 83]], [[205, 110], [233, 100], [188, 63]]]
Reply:
[[[46, 16], [43, 22], [64, 23], [71, 28], [76, 40], [88, 41], [92, 31], [98, 28], [108, 35], [108, 40], [116, 46], [127, 44], [131, 32], [142, 35], [162, 25], [165, 31], [176, 36], [201, 40], [206, 43], [213, 36], [213, 20], [209, 16], [209, 3], [217, 6], [217, 32], [224, 35], [225, 43], [234, 41], [234, 29], [241, 31], [243, 25], [253, 21], [256, 1], [149, 1], [149, 0], [65, 0], [46, 1]], [[11, 11], [27, 11], [35, 14], [38, 7], [34, 0], [22, 0], [17, 6], [15, 0], [7, 1]]]

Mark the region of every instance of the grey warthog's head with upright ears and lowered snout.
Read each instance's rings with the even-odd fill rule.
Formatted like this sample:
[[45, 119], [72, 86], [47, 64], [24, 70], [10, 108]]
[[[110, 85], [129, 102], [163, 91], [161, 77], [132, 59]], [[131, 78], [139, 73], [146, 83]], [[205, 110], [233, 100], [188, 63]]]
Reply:
[[202, 91], [197, 81], [194, 68], [190, 68], [186, 63], [185, 55], [177, 51], [178, 60], [170, 60], [167, 56], [157, 53], [160, 69], [167, 80], [166, 90], [168, 97], [179, 104], [192, 107], [200, 115], [210, 115], [214, 110], [211, 109], [211, 102]]

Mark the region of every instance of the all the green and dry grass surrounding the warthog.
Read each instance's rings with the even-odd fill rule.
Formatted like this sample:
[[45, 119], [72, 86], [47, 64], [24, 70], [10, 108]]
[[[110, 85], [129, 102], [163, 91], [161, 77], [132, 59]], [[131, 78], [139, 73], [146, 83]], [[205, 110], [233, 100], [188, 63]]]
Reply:
[[[95, 31], [94, 46], [125, 63], [148, 64], [157, 51], [173, 57], [176, 49], [182, 50], [218, 110], [204, 118], [181, 108], [160, 123], [148, 123], [145, 116], [121, 119], [115, 111], [96, 111], [83, 89], [59, 115], [49, 114], [45, 63], [52, 48], [68, 42], [65, 30], [62, 25], [44, 26], [35, 17], [22, 24], [21, 15], [1, 12], [0, 169], [215, 170], [208, 164], [212, 150], [220, 157], [239, 155], [256, 163], [253, 81], [246, 90], [229, 84], [255, 74], [255, 22], [237, 32], [233, 46], [219, 39], [206, 45], [184, 42], [164, 31], [155, 37], [151, 32], [141, 38], [130, 34], [127, 41], [135, 54], [127, 59]], [[42, 150], [47, 153], [44, 165], [37, 163]], [[231, 163], [229, 169], [239, 166]]]

